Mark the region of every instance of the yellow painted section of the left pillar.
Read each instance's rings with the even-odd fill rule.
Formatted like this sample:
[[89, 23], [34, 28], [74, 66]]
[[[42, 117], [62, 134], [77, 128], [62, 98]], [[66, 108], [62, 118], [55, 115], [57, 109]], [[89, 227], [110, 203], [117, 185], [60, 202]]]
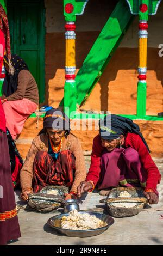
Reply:
[[76, 66], [76, 40], [66, 39], [66, 66]]

